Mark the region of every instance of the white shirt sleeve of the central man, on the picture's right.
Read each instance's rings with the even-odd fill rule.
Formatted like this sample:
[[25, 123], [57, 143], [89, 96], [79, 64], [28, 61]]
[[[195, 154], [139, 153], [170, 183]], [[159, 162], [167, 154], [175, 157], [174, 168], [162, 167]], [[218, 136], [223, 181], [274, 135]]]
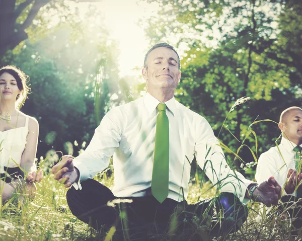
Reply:
[[[255, 182], [247, 180], [241, 173], [230, 168], [209, 123], [202, 118], [196, 128], [195, 154], [200, 168], [212, 184], [221, 192], [234, 193], [242, 202], [247, 187]], [[257, 183], [255, 183], [257, 184]]]

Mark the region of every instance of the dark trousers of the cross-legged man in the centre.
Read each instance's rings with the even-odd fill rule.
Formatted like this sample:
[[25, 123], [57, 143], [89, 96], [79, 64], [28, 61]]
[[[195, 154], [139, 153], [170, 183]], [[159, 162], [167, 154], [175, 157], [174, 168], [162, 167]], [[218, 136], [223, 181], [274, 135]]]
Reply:
[[246, 206], [233, 193], [221, 193], [216, 198], [188, 205], [186, 201], [169, 198], [159, 203], [152, 195], [118, 198], [106, 186], [92, 179], [81, 185], [82, 190], [71, 187], [66, 194], [73, 215], [96, 230], [115, 226], [117, 230], [128, 230], [128, 236], [140, 233], [141, 240], [148, 240], [144, 235], [150, 225], [157, 232], [169, 235], [185, 231], [196, 234], [198, 229], [206, 235], [216, 236], [238, 230], [247, 219]]

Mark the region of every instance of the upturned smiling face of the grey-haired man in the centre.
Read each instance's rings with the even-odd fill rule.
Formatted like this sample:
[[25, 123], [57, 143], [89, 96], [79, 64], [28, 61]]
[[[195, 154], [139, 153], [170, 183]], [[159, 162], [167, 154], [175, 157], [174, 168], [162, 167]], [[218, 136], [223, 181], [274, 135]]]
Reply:
[[147, 57], [147, 67], [142, 69], [148, 92], [159, 89], [175, 90], [180, 82], [177, 54], [169, 48], [159, 47]]

